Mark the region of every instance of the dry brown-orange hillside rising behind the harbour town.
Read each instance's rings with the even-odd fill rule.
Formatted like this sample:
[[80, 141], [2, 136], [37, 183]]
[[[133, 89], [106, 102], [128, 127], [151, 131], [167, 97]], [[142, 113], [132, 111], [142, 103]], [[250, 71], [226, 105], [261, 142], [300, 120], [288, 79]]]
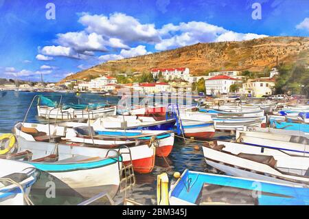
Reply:
[[190, 73], [196, 76], [209, 71], [263, 71], [266, 66], [275, 66], [277, 56], [279, 62], [285, 64], [297, 61], [309, 64], [309, 38], [275, 36], [241, 42], [198, 43], [146, 56], [104, 62], [64, 80], [170, 67], [188, 67]]

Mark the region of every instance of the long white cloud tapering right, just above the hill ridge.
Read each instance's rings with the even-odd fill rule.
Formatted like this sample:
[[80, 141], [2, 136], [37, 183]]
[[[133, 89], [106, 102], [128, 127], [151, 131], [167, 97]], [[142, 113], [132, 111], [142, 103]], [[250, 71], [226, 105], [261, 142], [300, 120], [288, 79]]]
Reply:
[[155, 45], [157, 50], [174, 49], [203, 42], [244, 41], [266, 36], [236, 33], [201, 21], [179, 23], [179, 25], [168, 23], [163, 25], [159, 33], [163, 39]]

